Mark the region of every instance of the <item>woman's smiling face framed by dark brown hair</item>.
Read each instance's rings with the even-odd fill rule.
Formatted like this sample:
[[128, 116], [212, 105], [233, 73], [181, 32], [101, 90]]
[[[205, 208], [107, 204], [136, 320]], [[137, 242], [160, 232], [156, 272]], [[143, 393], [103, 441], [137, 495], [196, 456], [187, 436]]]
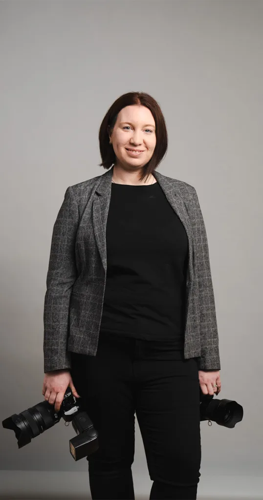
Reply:
[[[116, 165], [144, 166], [151, 159], [156, 145], [155, 121], [150, 109], [137, 104], [121, 109], [110, 138]], [[142, 152], [133, 154], [127, 149]]]

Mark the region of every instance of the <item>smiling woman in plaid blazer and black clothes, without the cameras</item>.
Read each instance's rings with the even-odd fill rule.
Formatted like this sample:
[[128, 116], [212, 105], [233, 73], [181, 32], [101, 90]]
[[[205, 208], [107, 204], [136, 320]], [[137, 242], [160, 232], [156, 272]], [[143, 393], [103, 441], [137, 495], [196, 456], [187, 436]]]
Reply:
[[150, 95], [120, 96], [99, 140], [106, 173], [67, 188], [53, 229], [43, 394], [58, 411], [70, 385], [99, 432], [92, 498], [134, 498], [136, 412], [150, 499], [195, 499], [200, 389], [221, 387], [198, 197], [156, 171], [167, 131]]

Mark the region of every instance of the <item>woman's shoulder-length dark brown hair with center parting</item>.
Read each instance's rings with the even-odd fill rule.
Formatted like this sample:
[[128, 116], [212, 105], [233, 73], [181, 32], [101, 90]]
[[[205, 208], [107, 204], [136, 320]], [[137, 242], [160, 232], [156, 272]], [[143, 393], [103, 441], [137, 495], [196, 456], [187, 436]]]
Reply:
[[151, 95], [145, 92], [127, 92], [120, 95], [120, 97], [118, 97], [108, 109], [99, 130], [100, 154], [102, 159], [102, 162], [99, 163], [99, 165], [104, 168], [110, 168], [116, 161], [113, 146], [109, 143], [109, 134], [116, 123], [120, 110], [123, 107], [130, 106], [132, 104], [141, 104], [148, 107], [154, 117], [156, 126], [156, 146], [151, 159], [142, 168], [140, 180], [143, 180], [144, 177], [148, 177], [153, 170], [157, 168], [166, 154], [168, 145], [167, 129], [161, 108], [158, 102]]

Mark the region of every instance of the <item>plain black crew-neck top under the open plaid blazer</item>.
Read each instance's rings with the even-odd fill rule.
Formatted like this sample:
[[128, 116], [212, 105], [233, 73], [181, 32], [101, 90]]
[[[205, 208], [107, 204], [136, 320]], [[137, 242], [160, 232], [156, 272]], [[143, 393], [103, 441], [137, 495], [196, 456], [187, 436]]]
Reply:
[[184, 345], [188, 238], [160, 184], [111, 185], [102, 333]]

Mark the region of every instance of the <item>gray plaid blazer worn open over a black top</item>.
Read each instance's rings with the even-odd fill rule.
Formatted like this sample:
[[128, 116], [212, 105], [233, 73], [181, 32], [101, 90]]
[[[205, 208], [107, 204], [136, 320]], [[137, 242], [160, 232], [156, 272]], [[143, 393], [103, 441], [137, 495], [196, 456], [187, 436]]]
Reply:
[[[70, 351], [96, 355], [106, 284], [113, 167], [69, 186], [54, 224], [44, 304], [44, 372], [70, 368]], [[184, 358], [220, 369], [208, 243], [196, 190], [154, 170], [189, 244]]]

